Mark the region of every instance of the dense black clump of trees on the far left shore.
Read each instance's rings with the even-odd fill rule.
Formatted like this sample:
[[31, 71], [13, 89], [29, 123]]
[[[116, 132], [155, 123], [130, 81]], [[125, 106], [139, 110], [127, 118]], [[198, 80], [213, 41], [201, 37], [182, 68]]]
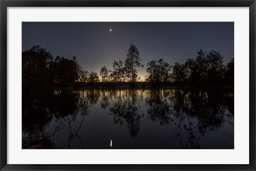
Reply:
[[22, 52], [22, 85], [29, 87], [73, 86], [81, 67], [76, 57], [53, 56], [39, 45]]

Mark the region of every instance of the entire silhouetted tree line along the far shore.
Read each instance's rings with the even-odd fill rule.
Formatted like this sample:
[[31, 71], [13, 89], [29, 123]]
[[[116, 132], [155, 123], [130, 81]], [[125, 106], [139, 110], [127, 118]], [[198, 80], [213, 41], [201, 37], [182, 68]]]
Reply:
[[[41, 46], [33, 46], [22, 52], [22, 84], [32, 87], [83, 85], [122, 85], [136, 86], [141, 79], [138, 76], [140, 63], [138, 48], [131, 44], [125, 60], [114, 60], [113, 69], [101, 67], [100, 74], [87, 71], [79, 66], [76, 56], [71, 60], [47, 52]], [[223, 56], [214, 50], [202, 49], [194, 59], [184, 63], [175, 62], [173, 66], [164, 59], [151, 60], [147, 63], [147, 75], [144, 85], [151, 86], [234, 86], [234, 59], [226, 65]]]

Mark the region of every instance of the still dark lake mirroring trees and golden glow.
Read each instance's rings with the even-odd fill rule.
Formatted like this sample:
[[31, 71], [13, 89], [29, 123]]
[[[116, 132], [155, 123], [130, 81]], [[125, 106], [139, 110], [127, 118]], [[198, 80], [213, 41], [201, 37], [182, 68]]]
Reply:
[[234, 88], [24, 90], [22, 149], [234, 149]]

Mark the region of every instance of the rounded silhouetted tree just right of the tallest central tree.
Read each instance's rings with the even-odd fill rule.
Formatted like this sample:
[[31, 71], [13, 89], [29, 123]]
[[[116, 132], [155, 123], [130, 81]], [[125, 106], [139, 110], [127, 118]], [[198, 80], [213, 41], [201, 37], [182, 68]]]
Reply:
[[163, 59], [151, 60], [147, 64], [146, 71], [148, 75], [146, 76], [146, 82], [151, 82], [154, 85], [159, 85], [159, 83], [167, 82], [170, 75], [170, 64], [164, 62]]

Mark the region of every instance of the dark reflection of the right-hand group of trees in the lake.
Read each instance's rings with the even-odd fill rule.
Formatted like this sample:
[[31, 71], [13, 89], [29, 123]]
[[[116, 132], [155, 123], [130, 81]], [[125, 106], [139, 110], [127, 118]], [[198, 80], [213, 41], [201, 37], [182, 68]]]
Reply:
[[200, 137], [223, 122], [234, 126], [227, 112], [229, 108], [234, 111], [234, 96], [226, 89], [150, 89], [146, 94], [148, 117], [161, 125], [174, 123], [177, 128], [173, 139], [180, 139], [181, 148], [200, 148]]

